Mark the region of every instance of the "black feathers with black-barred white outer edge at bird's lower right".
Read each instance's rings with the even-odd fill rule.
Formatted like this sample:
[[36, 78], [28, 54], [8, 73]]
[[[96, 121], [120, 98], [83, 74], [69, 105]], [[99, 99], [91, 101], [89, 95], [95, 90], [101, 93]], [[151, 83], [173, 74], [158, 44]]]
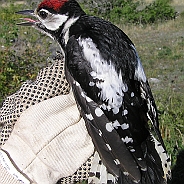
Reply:
[[[147, 170], [142, 171], [142, 184], [166, 184], [170, 178], [170, 159], [162, 145], [150, 136], [141, 145]], [[167, 168], [166, 168], [167, 166]]]

